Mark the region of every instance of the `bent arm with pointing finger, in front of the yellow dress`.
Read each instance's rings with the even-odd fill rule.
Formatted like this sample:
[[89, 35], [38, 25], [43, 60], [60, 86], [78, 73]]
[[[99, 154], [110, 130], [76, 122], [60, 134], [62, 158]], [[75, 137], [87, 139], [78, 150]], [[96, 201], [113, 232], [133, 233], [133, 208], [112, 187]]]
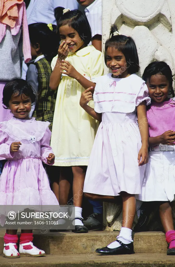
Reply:
[[92, 90], [93, 87], [90, 87], [82, 93], [79, 104], [91, 117], [101, 122], [102, 114], [97, 113], [93, 108], [87, 105], [87, 103], [89, 103], [89, 101], [92, 100], [92, 92], [91, 92]]

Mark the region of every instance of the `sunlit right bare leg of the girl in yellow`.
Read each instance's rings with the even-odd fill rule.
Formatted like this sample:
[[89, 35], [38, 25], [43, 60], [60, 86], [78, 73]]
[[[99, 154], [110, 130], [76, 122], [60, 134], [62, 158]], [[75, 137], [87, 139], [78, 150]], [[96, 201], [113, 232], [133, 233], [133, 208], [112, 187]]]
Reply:
[[82, 206], [83, 186], [85, 181], [86, 166], [72, 166], [73, 171], [73, 203], [75, 207]]

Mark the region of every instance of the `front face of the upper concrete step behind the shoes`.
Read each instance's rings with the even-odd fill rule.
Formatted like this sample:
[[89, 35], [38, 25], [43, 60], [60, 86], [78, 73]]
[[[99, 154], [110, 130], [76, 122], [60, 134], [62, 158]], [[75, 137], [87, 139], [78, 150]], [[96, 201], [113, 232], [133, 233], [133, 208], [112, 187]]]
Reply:
[[[0, 230], [0, 255], [3, 251], [3, 235]], [[113, 242], [119, 232], [116, 231], [89, 231], [86, 234], [72, 232], [41, 233], [34, 231], [34, 245], [43, 249], [46, 254], [87, 254], [95, 252], [97, 248], [107, 246]], [[163, 253], [166, 254], [167, 243], [162, 232], [133, 233], [134, 251], [136, 253]], [[67, 255], [67, 257], [69, 257]], [[0, 265], [1, 266], [1, 265]], [[153, 266], [154, 267], [154, 266]]]

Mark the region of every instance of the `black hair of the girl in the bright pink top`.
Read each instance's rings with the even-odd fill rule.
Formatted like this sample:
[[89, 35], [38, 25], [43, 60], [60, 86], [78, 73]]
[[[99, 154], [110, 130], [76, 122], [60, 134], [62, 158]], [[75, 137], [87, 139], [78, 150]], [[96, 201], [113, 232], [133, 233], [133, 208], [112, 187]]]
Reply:
[[162, 74], [164, 75], [167, 80], [169, 81], [170, 84], [170, 91], [169, 95], [174, 95], [174, 90], [173, 90], [173, 75], [172, 71], [170, 69], [170, 66], [166, 64], [164, 61], [154, 61], [151, 62], [144, 70], [144, 73], [142, 75], [142, 79], [147, 82], [148, 79], [151, 78], [152, 75], [155, 74]]

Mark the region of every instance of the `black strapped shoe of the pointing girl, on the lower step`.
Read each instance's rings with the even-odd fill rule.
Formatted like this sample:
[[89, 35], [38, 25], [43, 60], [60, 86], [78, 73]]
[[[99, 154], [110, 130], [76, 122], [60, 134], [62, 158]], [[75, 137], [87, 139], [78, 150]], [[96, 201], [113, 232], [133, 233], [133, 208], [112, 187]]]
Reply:
[[116, 240], [121, 246], [118, 248], [110, 249], [108, 247], [104, 247], [101, 249], [96, 249], [96, 252], [101, 255], [124, 255], [124, 254], [133, 254], [134, 246], [133, 242], [129, 244], [124, 244], [119, 240]]

